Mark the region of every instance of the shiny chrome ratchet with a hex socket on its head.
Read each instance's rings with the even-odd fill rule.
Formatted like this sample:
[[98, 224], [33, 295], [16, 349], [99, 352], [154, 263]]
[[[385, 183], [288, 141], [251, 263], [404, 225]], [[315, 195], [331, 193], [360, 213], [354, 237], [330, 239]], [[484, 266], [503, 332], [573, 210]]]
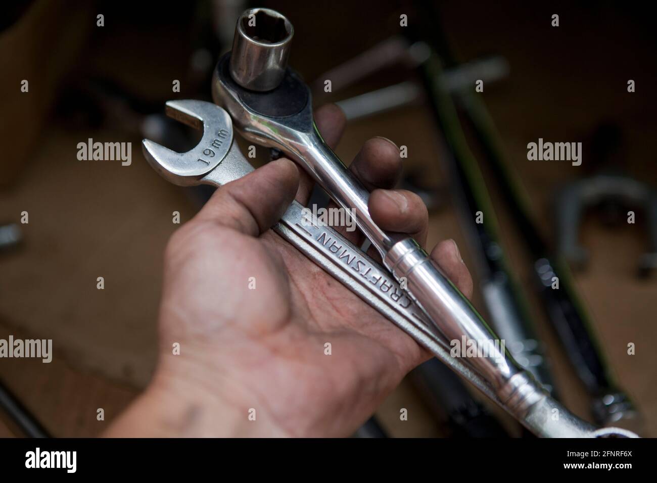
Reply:
[[[245, 11], [237, 21], [233, 51], [215, 68], [215, 103], [229, 112], [235, 129], [248, 141], [286, 153], [342, 208], [355, 214], [357, 226], [382, 256], [384, 267], [405, 287], [409, 299], [424, 311], [440, 335], [447, 340], [464, 339], [475, 346], [499, 340], [417, 242], [407, 235], [385, 233], [371, 219], [369, 193], [323, 141], [313, 121], [309, 88], [287, 67], [293, 33], [292, 24], [279, 12]], [[468, 369], [475, 376], [468, 380], [483, 383], [489, 397], [535, 434], [632, 435], [615, 428], [595, 432], [593, 426], [553, 400], [507, 351], [493, 344], [486, 350], [486, 357], [471, 357], [467, 363], [454, 363], [455, 358], [449, 356], [447, 360], [452, 361], [451, 367]], [[481, 388], [481, 384], [475, 385]]]

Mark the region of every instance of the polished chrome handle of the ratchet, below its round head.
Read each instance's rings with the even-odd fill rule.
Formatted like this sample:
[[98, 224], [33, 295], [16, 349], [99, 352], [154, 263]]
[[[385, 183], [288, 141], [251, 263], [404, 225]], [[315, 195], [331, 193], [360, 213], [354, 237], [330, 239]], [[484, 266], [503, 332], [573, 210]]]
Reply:
[[407, 235], [386, 233], [374, 223], [367, 207], [369, 191], [324, 143], [316, 128], [296, 145], [296, 150], [291, 154], [329, 195], [342, 208], [353, 210], [357, 226], [381, 254], [386, 268], [447, 340], [460, 344], [462, 352], [466, 347], [477, 350], [477, 356], [468, 361], [502, 402], [522, 414], [545, 397], [541, 385], [520, 368], [486, 321], [419, 244]]

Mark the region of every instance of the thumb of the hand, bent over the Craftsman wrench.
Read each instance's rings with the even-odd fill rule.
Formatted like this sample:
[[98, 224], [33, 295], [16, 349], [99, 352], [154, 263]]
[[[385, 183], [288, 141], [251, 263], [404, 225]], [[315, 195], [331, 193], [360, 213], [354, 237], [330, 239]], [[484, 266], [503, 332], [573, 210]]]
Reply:
[[298, 186], [296, 165], [280, 158], [219, 187], [195, 218], [258, 237], [283, 216]]

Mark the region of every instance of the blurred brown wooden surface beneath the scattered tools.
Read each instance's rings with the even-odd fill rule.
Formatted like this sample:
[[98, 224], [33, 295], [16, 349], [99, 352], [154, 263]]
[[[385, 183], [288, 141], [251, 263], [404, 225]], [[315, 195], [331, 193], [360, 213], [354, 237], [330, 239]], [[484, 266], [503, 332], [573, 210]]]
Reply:
[[[324, 8], [322, 5], [315, 8]], [[299, 24], [298, 28], [295, 24], [299, 40], [292, 62], [309, 80], [394, 32], [394, 25], [377, 26], [398, 18], [393, 10], [366, 17], [347, 15], [348, 7], [327, 9], [322, 16], [313, 14], [310, 6], [291, 2], [281, 2], [277, 8], [290, 12]], [[560, 184], [585, 175], [589, 159], [584, 158], [580, 167], [530, 162], [527, 143], [539, 137], [585, 142], [595, 127], [611, 121], [625, 136], [622, 158], [627, 172], [655, 184], [657, 94], [653, 87], [657, 72], [654, 43], [646, 40], [640, 20], [604, 9], [595, 15], [573, 11], [570, 16], [562, 15], [561, 28], [551, 29], [543, 25], [549, 20], [535, 18], [539, 13], [520, 3], [514, 8], [479, 7], [475, 11], [466, 11], [457, 3], [445, 7], [448, 31], [462, 58], [495, 53], [509, 60], [509, 78], [486, 86], [483, 96], [541, 229], [553, 238], [551, 196]], [[340, 18], [343, 35], [330, 28], [331, 18]], [[142, 92], [146, 99], [166, 99], [169, 80], [179, 77], [175, 69], [184, 62], [175, 55], [167, 62], [164, 55], [160, 62], [143, 66], [142, 58], [162, 57], [170, 45], [171, 52], [179, 51], [173, 47], [175, 35], [151, 35], [158, 34], [157, 42], [150, 38], [145, 43], [139, 41], [143, 35], [139, 29], [122, 30], [111, 41], [92, 43], [91, 53], [87, 52], [76, 68], [111, 77]], [[356, 42], [356, 38], [362, 40]], [[5, 58], [8, 53], [2, 49], [0, 36], [0, 52]], [[130, 55], [125, 55], [126, 49]], [[154, 53], [156, 49], [159, 54]], [[397, 76], [394, 72], [374, 76], [357, 88], [333, 93], [330, 100], [386, 85]], [[628, 79], [636, 81], [637, 92], [627, 93]], [[185, 97], [184, 89], [180, 96]], [[430, 216], [430, 244], [453, 238], [469, 262], [438, 163], [438, 156], [444, 155], [440, 135], [428, 108], [401, 108], [353, 122], [337, 152], [350, 160], [363, 141], [376, 135], [406, 145], [406, 169], [421, 170], [426, 183], [445, 194], [443, 206]], [[3, 145], [11, 143], [7, 135], [1, 136]], [[76, 145], [90, 137], [130, 141], [131, 166], [78, 161]], [[0, 379], [53, 435], [96, 436], [139, 394], [152, 374], [162, 250], [175, 229], [171, 212], [178, 210], [185, 221], [193, 216], [196, 204], [187, 191], [152, 172], [141, 156], [137, 135], [126, 137], [118, 128], [108, 127], [72, 129], [68, 122], [51, 118], [38, 139], [18, 176], [0, 191], [1, 222], [18, 221], [22, 211], [30, 216], [30, 223], [21, 225], [24, 246], [0, 256], [0, 338], [9, 334], [52, 338], [54, 357], [49, 364], [0, 359]], [[0, 164], [7, 162], [12, 160], [0, 160]], [[495, 206], [502, 206], [497, 193], [493, 199]], [[497, 215], [512, 267], [522, 287], [530, 287], [522, 233], [517, 233], [506, 212], [500, 209]], [[604, 227], [595, 217], [586, 218], [581, 241], [590, 250], [591, 263], [576, 273], [575, 282], [592, 315], [602, 350], [643, 413], [643, 434], [657, 436], [657, 352], [652, 345], [657, 344], [657, 279], [635, 277], [639, 256], [648, 246], [641, 216], [638, 214], [635, 225], [614, 229]], [[101, 276], [105, 289], [97, 290], [96, 279]], [[527, 295], [564, 403], [588, 418], [588, 398], [538, 301], [533, 294]], [[483, 308], [479, 293], [474, 303]], [[627, 355], [629, 342], [636, 345], [633, 356]], [[399, 421], [400, 407], [409, 409], [408, 421]], [[99, 408], [104, 409], [104, 421], [97, 420]], [[443, 424], [406, 380], [377, 415], [392, 436], [445, 434]], [[501, 417], [517, 434], [512, 422]], [[11, 435], [0, 422], [0, 436]]]

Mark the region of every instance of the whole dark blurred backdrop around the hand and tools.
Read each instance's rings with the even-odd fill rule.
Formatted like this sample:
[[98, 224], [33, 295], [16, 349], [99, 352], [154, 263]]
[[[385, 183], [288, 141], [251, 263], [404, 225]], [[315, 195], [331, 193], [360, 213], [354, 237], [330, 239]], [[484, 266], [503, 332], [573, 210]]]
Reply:
[[[553, 241], [551, 196], [566, 181], [600, 168], [603, 160], [591, 149], [600, 126], [611, 123], [622, 135], [612, 162], [637, 179], [657, 181], [656, 37], [648, 11], [628, 3], [531, 4], [440, 2], [443, 24], [436, 28], [445, 29], [463, 60], [488, 54], [508, 60], [509, 77], [486, 85], [482, 96], [512, 170]], [[0, 32], [0, 223], [19, 223], [20, 212], [30, 214], [30, 223], [20, 225], [22, 246], [0, 253], [0, 338], [53, 338], [54, 358], [50, 364], [0, 359], [0, 379], [55, 436], [95, 436], [148, 382], [156, 356], [162, 251], [177, 227], [171, 212], [178, 210], [184, 222], [198, 209], [197, 192], [170, 185], [143, 159], [143, 116], [161, 113], [168, 99], [209, 99], [208, 66], [229, 48], [220, 39], [232, 38], [242, 7], [45, 0], [26, 5], [23, 11], [10, 7]], [[290, 64], [307, 81], [399, 33], [399, 15], [413, 11], [410, 3], [377, 1], [259, 6], [281, 11], [294, 24]], [[99, 13], [102, 28], [96, 26]], [[551, 27], [553, 13], [560, 16], [558, 28]], [[409, 76], [408, 70], [390, 68], [322, 101]], [[20, 92], [23, 79], [30, 82], [29, 93]], [[180, 93], [171, 92], [174, 79], [181, 81]], [[627, 92], [629, 79], [636, 82], [635, 93]], [[430, 213], [429, 244], [453, 238], [469, 262], [437, 162], [440, 131], [428, 107], [353, 122], [337, 152], [348, 162], [376, 135], [406, 145], [407, 172], [420, 173], [440, 195], [442, 205]], [[89, 137], [131, 142], [132, 165], [78, 161], [76, 145]], [[528, 161], [526, 145], [539, 137], [581, 141], [582, 166]], [[188, 142], [191, 147], [193, 139]], [[258, 149], [258, 155], [260, 163], [268, 154]], [[503, 206], [494, 192], [493, 198]], [[502, 208], [497, 216], [507, 256], [528, 286], [522, 234]], [[591, 262], [576, 273], [576, 287], [610, 365], [643, 413], [643, 434], [656, 436], [657, 285], [654, 277], [635, 276], [648, 243], [645, 221], [638, 216], [635, 225], [609, 227], [592, 214], [581, 242]], [[104, 290], [96, 288], [99, 276]], [[527, 292], [564, 403], [588, 417], [587, 395]], [[483, 307], [478, 293], [474, 304]], [[628, 342], [635, 342], [635, 356], [627, 356]], [[96, 419], [100, 407], [105, 421]], [[399, 421], [400, 407], [409, 409], [408, 421]], [[393, 436], [445, 434], [440, 418], [407, 381], [377, 415]], [[11, 434], [0, 416], [0, 436]]]

